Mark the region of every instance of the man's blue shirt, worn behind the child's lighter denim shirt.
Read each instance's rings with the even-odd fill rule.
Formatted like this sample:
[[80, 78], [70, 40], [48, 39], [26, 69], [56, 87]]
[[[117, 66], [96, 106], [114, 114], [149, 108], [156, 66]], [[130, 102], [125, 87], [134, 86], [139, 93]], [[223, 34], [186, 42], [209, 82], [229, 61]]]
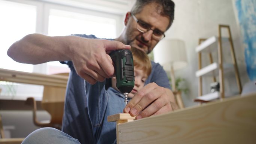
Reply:
[[[97, 37], [94, 35], [76, 34], [73, 36], [97, 39]], [[71, 137], [78, 139], [81, 144], [95, 144], [95, 141], [98, 141], [95, 140], [95, 135], [98, 136], [98, 134], [95, 132], [98, 131], [93, 130], [95, 129], [92, 124], [94, 122], [92, 122], [89, 118], [88, 99], [85, 96], [84, 80], [77, 75], [71, 61], [63, 61], [61, 63], [67, 64], [70, 68], [65, 96], [62, 131]], [[151, 64], [152, 71], [147, 78], [145, 85], [155, 82], [159, 86], [170, 89], [167, 74], [165, 73], [162, 66], [153, 61]], [[124, 102], [119, 102], [115, 105], [117, 104], [124, 104]], [[123, 106], [121, 105], [121, 107]]]

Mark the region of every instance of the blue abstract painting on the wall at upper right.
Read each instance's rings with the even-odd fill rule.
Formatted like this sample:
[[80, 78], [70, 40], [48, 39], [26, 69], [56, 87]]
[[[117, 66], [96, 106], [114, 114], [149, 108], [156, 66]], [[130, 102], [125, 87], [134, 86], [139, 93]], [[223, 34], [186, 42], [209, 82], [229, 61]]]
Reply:
[[235, 6], [245, 46], [247, 73], [250, 80], [256, 80], [256, 0], [236, 0]]

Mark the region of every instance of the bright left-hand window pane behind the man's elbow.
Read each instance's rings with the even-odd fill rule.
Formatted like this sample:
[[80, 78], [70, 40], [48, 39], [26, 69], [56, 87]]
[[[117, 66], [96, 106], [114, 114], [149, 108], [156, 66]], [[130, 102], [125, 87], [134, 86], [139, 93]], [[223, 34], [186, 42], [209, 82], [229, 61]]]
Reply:
[[36, 6], [0, 0], [0, 68], [32, 72], [33, 65], [13, 61], [6, 52], [15, 41], [36, 32]]

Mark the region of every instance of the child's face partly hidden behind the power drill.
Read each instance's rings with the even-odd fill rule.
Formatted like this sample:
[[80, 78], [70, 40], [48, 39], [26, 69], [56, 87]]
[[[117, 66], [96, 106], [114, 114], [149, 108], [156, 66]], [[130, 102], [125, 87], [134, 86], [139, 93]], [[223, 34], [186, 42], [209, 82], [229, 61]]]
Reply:
[[143, 70], [140, 70], [136, 67], [134, 67], [134, 88], [132, 91], [128, 94], [128, 98], [133, 98], [133, 96], [143, 88], [144, 83], [147, 79], [147, 75]]

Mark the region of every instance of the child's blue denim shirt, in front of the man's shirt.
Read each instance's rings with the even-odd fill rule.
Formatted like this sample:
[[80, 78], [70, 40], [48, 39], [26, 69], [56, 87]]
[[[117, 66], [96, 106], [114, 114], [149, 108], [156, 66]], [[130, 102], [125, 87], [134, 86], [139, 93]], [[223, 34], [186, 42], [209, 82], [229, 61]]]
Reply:
[[112, 144], [116, 140], [116, 123], [107, 122], [107, 116], [122, 113], [125, 108], [124, 95], [110, 87], [105, 89], [105, 82], [90, 85], [85, 82], [88, 98], [88, 112], [92, 122], [96, 144]]

